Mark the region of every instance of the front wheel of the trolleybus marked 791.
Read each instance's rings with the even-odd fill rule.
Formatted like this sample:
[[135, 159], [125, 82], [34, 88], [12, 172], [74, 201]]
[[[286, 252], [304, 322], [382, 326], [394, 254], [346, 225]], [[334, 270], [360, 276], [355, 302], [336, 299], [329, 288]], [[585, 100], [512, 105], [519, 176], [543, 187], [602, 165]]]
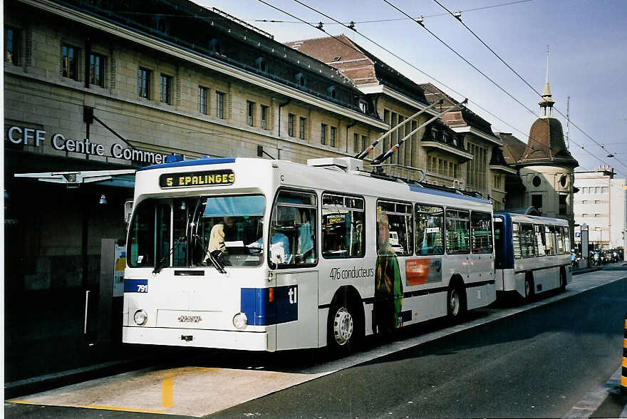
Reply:
[[351, 301], [333, 301], [328, 311], [326, 344], [332, 356], [345, 356], [355, 351], [361, 341], [361, 317]]

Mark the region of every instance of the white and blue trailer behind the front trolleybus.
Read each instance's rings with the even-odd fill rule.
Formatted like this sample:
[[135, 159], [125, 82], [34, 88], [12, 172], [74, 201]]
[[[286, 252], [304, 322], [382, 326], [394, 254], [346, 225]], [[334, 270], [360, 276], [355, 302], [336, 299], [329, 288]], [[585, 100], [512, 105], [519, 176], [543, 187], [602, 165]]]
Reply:
[[571, 281], [569, 224], [565, 219], [494, 214], [495, 274], [499, 294], [529, 299]]

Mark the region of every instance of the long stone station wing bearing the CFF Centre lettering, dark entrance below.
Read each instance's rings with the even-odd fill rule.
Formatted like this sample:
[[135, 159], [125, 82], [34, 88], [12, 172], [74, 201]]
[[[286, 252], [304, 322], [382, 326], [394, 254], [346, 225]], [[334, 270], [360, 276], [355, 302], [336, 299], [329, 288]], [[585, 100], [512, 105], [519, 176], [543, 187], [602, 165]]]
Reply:
[[172, 154], [306, 162], [388, 129], [336, 68], [190, 1], [8, 0], [4, 39], [7, 382], [123, 356], [133, 177], [78, 172]]

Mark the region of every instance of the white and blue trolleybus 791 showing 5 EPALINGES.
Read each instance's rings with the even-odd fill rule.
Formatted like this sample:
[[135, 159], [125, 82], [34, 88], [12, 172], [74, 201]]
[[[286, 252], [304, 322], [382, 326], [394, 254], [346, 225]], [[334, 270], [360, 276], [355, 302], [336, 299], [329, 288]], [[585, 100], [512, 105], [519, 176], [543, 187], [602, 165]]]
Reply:
[[496, 299], [492, 219], [489, 200], [383, 179], [350, 157], [144, 167], [123, 341], [346, 351], [456, 319]]

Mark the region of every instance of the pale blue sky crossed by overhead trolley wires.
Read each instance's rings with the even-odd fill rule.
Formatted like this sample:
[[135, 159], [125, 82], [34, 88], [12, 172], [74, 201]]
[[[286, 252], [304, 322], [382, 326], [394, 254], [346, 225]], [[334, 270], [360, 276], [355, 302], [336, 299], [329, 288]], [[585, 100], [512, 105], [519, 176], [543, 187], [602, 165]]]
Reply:
[[[433, 83], [460, 101], [469, 98], [470, 110], [492, 123], [494, 132], [512, 133], [524, 143], [538, 118], [537, 92], [544, 89], [548, 47], [554, 118], [566, 135], [569, 114], [576, 170], [610, 165], [616, 177], [627, 177], [626, 0], [387, 0], [409, 16], [424, 16], [425, 27], [450, 48], [386, 0], [193, 1], [226, 11], [279, 42], [344, 33], [416, 83]], [[463, 23], [524, 81], [438, 2], [462, 11]], [[345, 24], [356, 22], [357, 32], [303, 4]], [[321, 21], [326, 33], [282, 11], [310, 23]]]

